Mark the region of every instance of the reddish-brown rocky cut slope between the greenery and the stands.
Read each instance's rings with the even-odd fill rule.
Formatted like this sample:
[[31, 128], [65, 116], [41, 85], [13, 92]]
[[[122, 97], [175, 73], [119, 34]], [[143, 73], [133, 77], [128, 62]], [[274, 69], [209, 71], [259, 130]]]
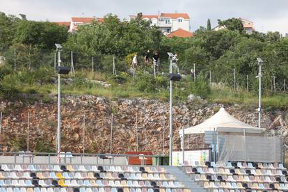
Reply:
[[[178, 131], [182, 127], [198, 125], [214, 115], [222, 104], [207, 104], [193, 100], [173, 107], [173, 147], [179, 149]], [[225, 106], [235, 118], [257, 126], [257, 111], [239, 105]], [[26, 150], [27, 114], [29, 113], [30, 150], [55, 151], [57, 129], [56, 97], [51, 102], [33, 104], [1, 101], [2, 151]], [[91, 153], [110, 152], [111, 114], [113, 113], [113, 153], [136, 150], [168, 154], [168, 102], [147, 99], [116, 99], [90, 95], [64, 96], [62, 102], [62, 150], [83, 151], [83, 118], [85, 117], [85, 150]], [[287, 130], [286, 111], [264, 111], [263, 125], [269, 130]], [[137, 126], [136, 126], [137, 125]], [[137, 129], [136, 129], [137, 127]], [[164, 130], [163, 130], [164, 127]], [[164, 131], [164, 132], [163, 132]], [[195, 136], [192, 147], [204, 147], [203, 137]]]

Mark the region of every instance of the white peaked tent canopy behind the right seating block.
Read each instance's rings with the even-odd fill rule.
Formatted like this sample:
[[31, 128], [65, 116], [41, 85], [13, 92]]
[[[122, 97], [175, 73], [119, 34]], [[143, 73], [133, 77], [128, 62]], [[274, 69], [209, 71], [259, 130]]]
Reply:
[[[215, 115], [211, 118], [205, 120], [199, 125], [194, 127], [189, 127], [184, 130], [184, 134], [201, 134], [205, 131], [218, 131], [218, 132], [234, 132], [234, 133], [255, 133], [260, 134], [265, 129], [253, 127], [241, 122], [234, 118], [232, 115], [227, 113], [224, 108], [221, 108]], [[182, 129], [179, 130], [179, 134], [182, 135]]]

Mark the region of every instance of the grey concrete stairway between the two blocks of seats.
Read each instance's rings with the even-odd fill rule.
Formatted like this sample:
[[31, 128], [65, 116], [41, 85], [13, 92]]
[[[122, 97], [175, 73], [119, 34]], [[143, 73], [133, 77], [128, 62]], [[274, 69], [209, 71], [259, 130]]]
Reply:
[[189, 175], [186, 175], [184, 170], [176, 166], [162, 166], [167, 173], [173, 175], [179, 182], [184, 184], [187, 189], [191, 189], [191, 192], [205, 192], [206, 190], [198, 185]]

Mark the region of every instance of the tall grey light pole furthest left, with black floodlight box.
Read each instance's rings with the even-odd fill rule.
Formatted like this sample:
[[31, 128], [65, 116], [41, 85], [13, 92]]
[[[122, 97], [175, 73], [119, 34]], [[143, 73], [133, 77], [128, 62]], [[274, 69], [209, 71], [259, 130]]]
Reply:
[[57, 153], [61, 152], [61, 74], [68, 74], [70, 72], [69, 67], [61, 67], [61, 51], [62, 46], [55, 44], [58, 51], [58, 123], [57, 123]]

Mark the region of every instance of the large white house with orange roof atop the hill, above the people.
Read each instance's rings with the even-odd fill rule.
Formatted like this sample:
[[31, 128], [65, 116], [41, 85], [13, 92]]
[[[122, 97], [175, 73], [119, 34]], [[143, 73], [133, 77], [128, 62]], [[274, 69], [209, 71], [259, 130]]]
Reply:
[[[135, 15], [130, 15], [129, 19], [135, 19]], [[142, 15], [145, 20], [150, 20], [154, 26], [159, 26], [164, 34], [183, 29], [190, 31], [190, 17], [187, 13], [160, 13], [159, 15]]]

